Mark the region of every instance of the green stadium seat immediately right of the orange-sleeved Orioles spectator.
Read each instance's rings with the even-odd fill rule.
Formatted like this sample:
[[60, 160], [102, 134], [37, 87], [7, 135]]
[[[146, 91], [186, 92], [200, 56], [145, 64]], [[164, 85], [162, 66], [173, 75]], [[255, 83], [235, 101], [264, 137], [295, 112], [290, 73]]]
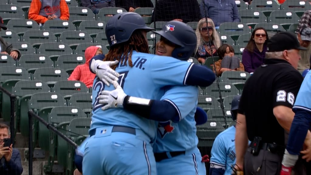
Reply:
[[87, 7], [69, 7], [69, 21], [79, 24], [81, 21], [96, 20], [95, 14]]

